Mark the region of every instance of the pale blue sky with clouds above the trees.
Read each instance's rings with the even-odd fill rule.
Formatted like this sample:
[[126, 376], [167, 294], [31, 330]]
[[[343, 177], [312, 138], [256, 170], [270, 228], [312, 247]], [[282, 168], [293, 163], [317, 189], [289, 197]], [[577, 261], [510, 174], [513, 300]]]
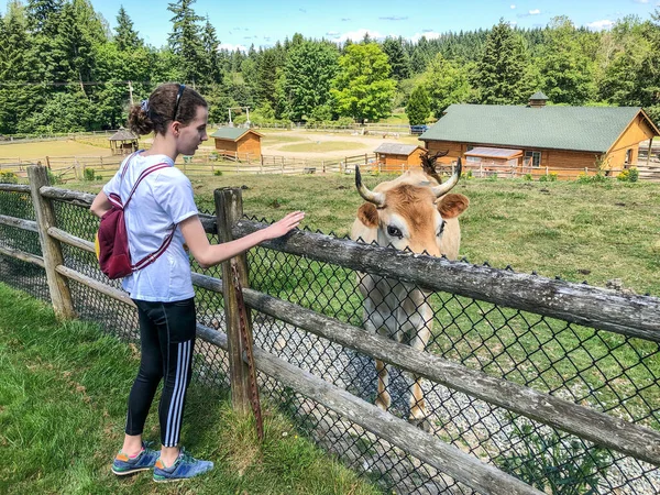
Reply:
[[[25, 2], [26, 0], [24, 0]], [[174, 0], [169, 0], [174, 1]], [[117, 25], [123, 4], [140, 36], [150, 45], [167, 43], [172, 12], [162, 0], [91, 0], [109, 22]], [[417, 41], [447, 32], [488, 29], [499, 19], [519, 28], [544, 26], [557, 15], [568, 15], [575, 25], [608, 29], [625, 15], [642, 20], [660, 7], [660, 0], [427, 0], [408, 3], [391, 0], [197, 0], [193, 8], [209, 18], [222, 47], [244, 50], [272, 46], [294, 33], [343, 42], [388, 35]]]

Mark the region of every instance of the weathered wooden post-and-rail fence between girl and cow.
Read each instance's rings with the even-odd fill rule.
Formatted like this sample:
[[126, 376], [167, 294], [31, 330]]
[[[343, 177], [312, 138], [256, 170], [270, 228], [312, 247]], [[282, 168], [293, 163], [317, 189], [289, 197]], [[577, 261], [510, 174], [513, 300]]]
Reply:
[[[94, 252], [94, 245], [58, 228], [54, 201], [88, 207], [94, 196], [50, 187], [44, 167], [30, 167], [28, 172], [30, 186], [0, 185], [0, 191], [30, 193], [36, 211], [36, 221], [0, 215], [0, 226], [38, 232], [43, 255], [37, 256], [1, 246], [0, 254], [45, 268], [53, 306], [61, 318], [74, 317], [74, 304], [68, 288], [69, 279], [127, 305], [133, 305], [125, 293], [67, 267], [63, 262], [62, 244], [88, 253]], [[264, 227], [241, 219], [240, 189], [217, 190], [215, 197], [216, 217], [201, 217], [205, 230], [209, 234], [218, 234], [222, 240], [231, 240]], [[487, 266], [477, 267], [468, 263], [414, 255], [302, 231], [265, 242], [263, 246], [361, 273], [415, 284], [426, 290], [465, 296], [653, 344], [660, 342], [660, 299], [653, 297], [624, 295]], [[246, 280], [245, 258], [240, 256], [237, 261], [242, 278]], [[198, 324], [198, 329], [201, 339], [230, 351], [232, 386], [244, 387], [248, 381], [244, 380], [243, 374], [248, 373], [248, 370], [243, 344], [239, 338], [235, 318], [238, 308], [233, 302], [235, 299], [228, 297], [228, 293], [233, 292], [229, 282], [231, 277], [227, 276], [229, 263], [228, 261], [224, 264], [223, 279], [196, 273], [193, 275], [193, 282], [197, 287], [226, 295], [227, 334], [201, 324]], [[249, 287], [243, 289], [243, 297], [254, 311], [271, 316], [311, 334], [321, 336], [331, 342], [382, 360], [487, 404], [570, 432], [596, 446], [660, 466], [659, 431], [557, 395], [491, 376], [428, 352], [417, 351], [385, 337], [365, 333], [360, 328]], [[541, 493], [476, 455], [465, 453], [446, 443], [439, 437], [419, 430], [405, 420], [384, 413], [352, 396], [345, 389], [304, 372], [273, 354], [255, 349], [254, 358], [261, 372], [275, 377], [286, 386], [322, 404], [477, 492], [507, 495]], [[649, 386], [658, 386], [658, 382]], [[245, 388], [234, 389], [232, 393], [234, 406], [240, 410], [249, 410], [248, 397], [249, 392]]]

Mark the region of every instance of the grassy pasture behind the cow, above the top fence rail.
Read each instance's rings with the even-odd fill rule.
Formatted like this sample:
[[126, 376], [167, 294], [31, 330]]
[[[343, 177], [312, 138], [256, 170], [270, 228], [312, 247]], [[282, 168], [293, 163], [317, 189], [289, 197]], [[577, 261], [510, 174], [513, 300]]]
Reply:
[[[392, 176], [366, 177], [369, 187]], [[305, 224], [350, 232], [362, 204], [350, 176], [226, 175], [193, 178], [197, 204], [212, 211], [212, 191], [241, 187], [249, 215], [277, 219], [305, 210]], [[96, 193], [101, 184], [67, 184]], [[660, 295], [660, 185], [510, 179], [462, 180], [470, 198], [461, 217], [461, 255], [472, 263], [604, 286], [620, 278], [637, 293]]]

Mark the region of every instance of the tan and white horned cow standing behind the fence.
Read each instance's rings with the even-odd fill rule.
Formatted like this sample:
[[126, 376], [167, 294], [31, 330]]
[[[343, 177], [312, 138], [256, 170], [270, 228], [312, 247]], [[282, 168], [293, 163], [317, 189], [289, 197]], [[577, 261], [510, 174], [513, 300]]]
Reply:
[[[351, 239], [455, 260], [461, 243], [458, 217], [470, 201], [463, 195], [448, 193], [459, 180], [461, 161], [444, 184], [439, 184], [438, 176], [428, 172], [408, 170], [395, 180], [378, 184], [372, 191], [362, 184], [360, 169], [355, 167], [355, 186], [367, 202], [358, 210]], [[364, 296], [364, 328], [398, 342], [408, 334], [410, 345], [424, 351], [433, 320], [428, 294], [410, 284], [376, 275], [359, 274], [358, 280]], [[376, 360], [376, 405], [387, 410], [391, 405], [387, 369]], [[414, 376], [413, 380], [409, 421], [428, 429], [421, 378]]]

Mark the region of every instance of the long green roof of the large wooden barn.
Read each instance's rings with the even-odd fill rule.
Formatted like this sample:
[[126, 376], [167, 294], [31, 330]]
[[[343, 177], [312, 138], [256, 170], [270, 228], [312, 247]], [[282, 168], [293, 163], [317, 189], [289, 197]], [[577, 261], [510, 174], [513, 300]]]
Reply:
[[606, 152], [639, 107], [451, 105], [421, 141]]

